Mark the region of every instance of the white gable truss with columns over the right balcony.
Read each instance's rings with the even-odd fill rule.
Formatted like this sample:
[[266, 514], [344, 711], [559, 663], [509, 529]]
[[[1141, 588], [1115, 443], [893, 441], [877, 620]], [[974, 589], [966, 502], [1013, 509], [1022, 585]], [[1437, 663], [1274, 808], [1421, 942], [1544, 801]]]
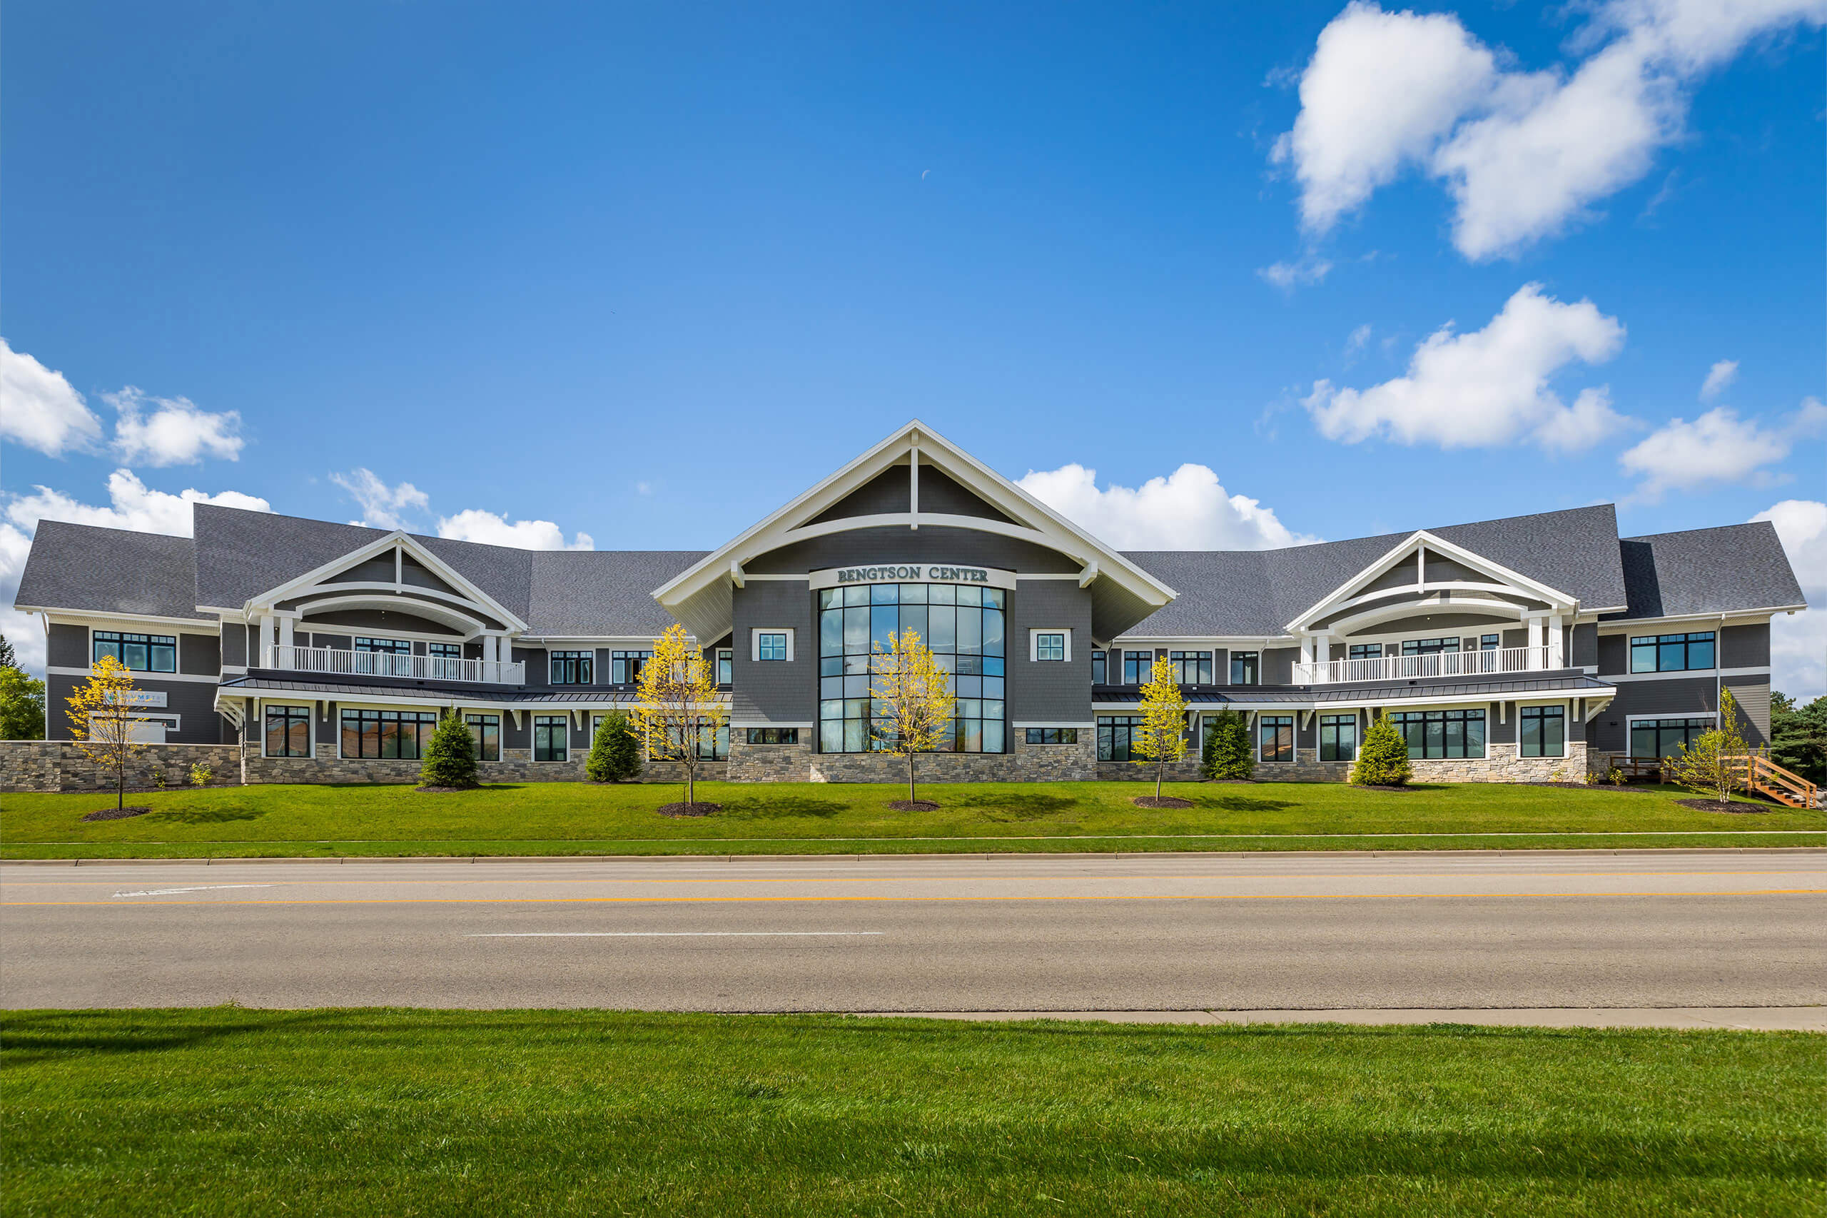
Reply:
[[1476, 633], [1522, 629], [1531, 653], [1487, 658], [1487, 668], [1496, 666], [1493, 671], [1557, 669], [1569, 664], [1579, 607], [1560, 589], [1420, 529], [1288, 622], [1288, 633], [1301, 644], [1297, 680], [1304, 682], [1372, 678], [1370, 671], [1341, 668], [1348, 662], [1332, 658], [1336, 647], [1352, 636], [1374, 638], [1379, 625], [1398, 627], [1434, 614], [1465, 614], [1480, 625], [1463, 629]]

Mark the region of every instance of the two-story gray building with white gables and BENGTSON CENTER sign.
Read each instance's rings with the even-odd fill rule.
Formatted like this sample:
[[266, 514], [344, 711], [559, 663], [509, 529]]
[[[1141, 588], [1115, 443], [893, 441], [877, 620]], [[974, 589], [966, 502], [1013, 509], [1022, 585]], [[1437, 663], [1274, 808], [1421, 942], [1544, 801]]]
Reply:
[[[49, 735], [102, 655], [148, 739], [245, 743], [248, 781], [407, 779], [442, 713], [495, 777], [572, 779], [681, 622], [733, 779], [884, 779], [870, 655], [954, 675], [937, 779], [1131, 775], [1140, 682], [1200, 739], [1250, 717], [1266, 777], [1343, 779], [1392, 717], [1421, 775], [1577, 777], [1714, 726], [1769, 733], [1770, 618], [1805, 607], [1767, 523], [1619, 538], [1610, 505], [1279, 550], [1114, 550], [912, 422], [709, 552], [517, 550], [195, 505], [194, 538], [44, 521]], [[1197, 753], [1197, 750], [1193, 750]]]

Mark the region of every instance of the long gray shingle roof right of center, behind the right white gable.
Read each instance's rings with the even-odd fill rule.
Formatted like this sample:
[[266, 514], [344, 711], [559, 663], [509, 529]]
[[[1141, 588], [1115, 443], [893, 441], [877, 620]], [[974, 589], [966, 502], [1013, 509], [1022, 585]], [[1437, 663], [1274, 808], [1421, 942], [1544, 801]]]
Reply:
[[[1410, 532], [1281, 550], [1131, 550], [1125, 558], [1180, 596], [1127, 635], [1281, 635], [1290, 620]], [[1445, 525], [1429, 532], [1575, 596], [1584, 605], [1624, 604], [1617, 512], [1610, 503]]]

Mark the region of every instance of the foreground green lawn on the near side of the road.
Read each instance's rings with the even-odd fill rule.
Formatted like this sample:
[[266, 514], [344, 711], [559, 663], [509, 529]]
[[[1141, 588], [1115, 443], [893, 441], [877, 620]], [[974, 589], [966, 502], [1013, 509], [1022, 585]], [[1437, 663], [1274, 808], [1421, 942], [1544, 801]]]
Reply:
[[0, 1017], [4, 1214], [1818, 1214], [1827, 1039]]

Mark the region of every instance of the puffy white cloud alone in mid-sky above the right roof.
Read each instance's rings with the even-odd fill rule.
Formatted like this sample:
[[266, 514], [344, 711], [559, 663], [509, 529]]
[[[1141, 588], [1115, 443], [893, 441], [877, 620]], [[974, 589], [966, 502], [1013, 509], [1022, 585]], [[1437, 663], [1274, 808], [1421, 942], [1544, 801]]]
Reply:
[[1624, 346], [1624, 326], [1589, 300], [1562, 304], [1524, 283], [1489, 326], [1454, 335], [1442, 326], [1416, 346], [1409, 375], [1368, 390], [1314, 382], [1303, 406], [1328, 439], [1381, 435], [1401, 444], [1484, 448], [1529, 439], [1575, 452], [1628, 426], [1606, 390], [1568, 406], [1549, 379], [1573, 362], [1599, 364]]

